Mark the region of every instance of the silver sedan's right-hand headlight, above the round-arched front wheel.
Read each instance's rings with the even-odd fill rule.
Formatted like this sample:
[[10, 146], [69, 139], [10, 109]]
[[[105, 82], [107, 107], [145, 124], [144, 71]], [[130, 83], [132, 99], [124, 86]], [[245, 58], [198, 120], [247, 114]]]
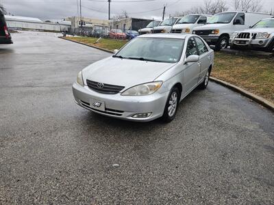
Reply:
[[121, 95], [122, 96], [147, 96], [156, 92], [161, 86], [162, 86], [162, 81], [136, 85], [134, 87], [130, 87]]

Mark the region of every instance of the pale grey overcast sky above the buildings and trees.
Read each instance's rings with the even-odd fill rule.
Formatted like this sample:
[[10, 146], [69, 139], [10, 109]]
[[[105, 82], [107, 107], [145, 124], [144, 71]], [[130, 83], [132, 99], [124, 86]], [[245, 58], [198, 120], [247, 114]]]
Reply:
[[[79, 15], [77, 10], [79, 0], [0, 0], [6, 10], [17, 16], [29, 16], [42, 20], [59, 20], [68, 16]], [[105, 1], [105, 2], [100, 2]], [[189, 10], [200, 5], [204, 0], [112, 0], [111, 16], [126, 10], [129, 16], [138, 18], [160, 18], [162, 7], [167, 4], [166, 16], [175, 12]], [[125, 1], [125, 2], [114, 2]], [[142, 2], [126, 2], [142, 1]], [[227, 0], [227, 5], [233, 8], [234, 0]], [[262, 0], [263, 10], [274, 10], [274, 0]], [[79, 5], [79, 4], [78, 4]], [[82, 0], [82, 16], [92, 18], [108, 18], [107, 0]]]

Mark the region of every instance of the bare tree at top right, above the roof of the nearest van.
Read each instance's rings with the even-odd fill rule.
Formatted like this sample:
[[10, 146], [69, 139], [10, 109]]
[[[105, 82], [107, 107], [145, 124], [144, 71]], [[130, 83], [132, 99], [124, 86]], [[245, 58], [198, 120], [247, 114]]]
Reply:
[[249, 12], [262, 11], [262, 1], [259, 0], [234, 0], [235, 10], [246, 10]]

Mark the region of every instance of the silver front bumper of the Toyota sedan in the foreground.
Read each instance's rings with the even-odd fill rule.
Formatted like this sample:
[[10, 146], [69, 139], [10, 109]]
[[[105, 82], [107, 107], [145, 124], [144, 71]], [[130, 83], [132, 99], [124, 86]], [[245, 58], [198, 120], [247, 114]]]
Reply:
[[[73, 96], [77, 105], [95, 113], [122, 120], [149, 122], [160, 118], [164, 113], [169, 92], [155, 92], [149, 96], [121, 96], [119, 94], [101, 94], [90, 90], [88, 86], [73, 83]], [[105, 103], [105, 111], [95, 109], [90, 100], [96, 99]], [[132, 118], [137, 113], [152, 113], [147, 118]]]

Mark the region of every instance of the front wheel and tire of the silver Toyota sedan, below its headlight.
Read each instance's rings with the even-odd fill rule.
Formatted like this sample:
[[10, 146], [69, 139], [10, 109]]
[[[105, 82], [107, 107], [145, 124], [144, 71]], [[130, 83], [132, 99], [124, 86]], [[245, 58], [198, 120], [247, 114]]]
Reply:
[[162, 115], [162, 120], [164, 122], [171, 122], [177, 113], [177, 108], [179, 105], [179, 89], [173, 87], [169, 93], [169, 97], [166, 100], [166, 106], [164, 107], [164, 114]]

